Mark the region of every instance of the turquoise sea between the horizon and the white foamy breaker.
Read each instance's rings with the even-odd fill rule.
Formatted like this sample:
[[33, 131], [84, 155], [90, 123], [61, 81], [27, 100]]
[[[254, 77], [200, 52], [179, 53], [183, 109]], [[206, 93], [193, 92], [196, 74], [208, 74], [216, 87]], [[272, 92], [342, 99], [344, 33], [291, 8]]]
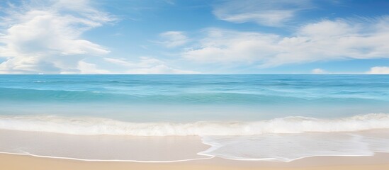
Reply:
[[135, 122], [339, 118], [388, 112], [388, 86], [386, 75], [1, 75], [0, 114]]

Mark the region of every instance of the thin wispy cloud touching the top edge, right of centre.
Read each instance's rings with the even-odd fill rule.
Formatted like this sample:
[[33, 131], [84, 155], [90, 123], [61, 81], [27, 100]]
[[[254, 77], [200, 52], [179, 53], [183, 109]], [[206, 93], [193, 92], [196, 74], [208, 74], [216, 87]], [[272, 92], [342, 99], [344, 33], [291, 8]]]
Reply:
[[219, 19], [232, 23], [254, 22], [264, 26], [282, 26], [305, 8], [310, 8], [310, 1], [228, 0], [216, 4], [213, 13]]

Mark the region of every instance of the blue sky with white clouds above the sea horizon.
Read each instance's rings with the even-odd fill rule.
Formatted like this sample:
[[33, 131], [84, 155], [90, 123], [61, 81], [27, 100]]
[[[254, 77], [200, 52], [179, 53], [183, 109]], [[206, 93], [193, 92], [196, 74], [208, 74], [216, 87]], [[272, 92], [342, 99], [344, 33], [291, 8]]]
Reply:
[[0, 74], [389, 74], [387, 0], [0, 0]]

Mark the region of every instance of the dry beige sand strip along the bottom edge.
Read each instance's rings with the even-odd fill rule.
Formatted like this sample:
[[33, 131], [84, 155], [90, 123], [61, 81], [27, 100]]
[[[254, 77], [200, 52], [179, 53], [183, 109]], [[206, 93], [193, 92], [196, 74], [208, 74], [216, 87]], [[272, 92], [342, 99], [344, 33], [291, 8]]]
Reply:
[[295, 162], [243, 162], [226, 159], [205, 159], [174, 163], [137, 163], [137, 162], [84, 162], [68, 159], [40, 158], [25, 155], [0, 154], [0, 169], [352, 169], [380, 170], [389, 169], [389, 154], [376, 154], [373, 157], [312, 157]]

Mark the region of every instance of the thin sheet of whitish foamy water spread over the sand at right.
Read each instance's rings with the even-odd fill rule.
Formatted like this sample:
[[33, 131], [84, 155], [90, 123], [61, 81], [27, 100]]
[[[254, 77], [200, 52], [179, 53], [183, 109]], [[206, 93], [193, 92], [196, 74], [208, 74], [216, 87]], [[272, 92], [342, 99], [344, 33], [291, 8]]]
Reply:
[[[380, 137], [371, 137], [371, 134]], [[317, 156], [372, 156], [389, 152], [387, 130], [369, 132], [327, 132], [266, 134], [253, 136], [207, 136], [210, 145], [199, 154], [246, 161], [291, 162]]]

